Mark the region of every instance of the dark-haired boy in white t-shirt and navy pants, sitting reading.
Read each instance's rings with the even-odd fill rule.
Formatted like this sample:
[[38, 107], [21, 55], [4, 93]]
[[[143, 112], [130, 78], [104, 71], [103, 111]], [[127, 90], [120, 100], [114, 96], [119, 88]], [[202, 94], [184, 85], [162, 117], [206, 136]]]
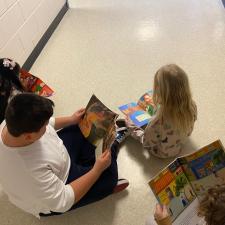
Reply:
[[0, 126], [3, 190], [13, 204], [37, 217], [87, 205], [129, 184], [118, 180], [116, 142], [95, 159], [95, 147], [76, 125], [84, 109], [53, 118], [53, 106], [35, 94], [16, 95]]

